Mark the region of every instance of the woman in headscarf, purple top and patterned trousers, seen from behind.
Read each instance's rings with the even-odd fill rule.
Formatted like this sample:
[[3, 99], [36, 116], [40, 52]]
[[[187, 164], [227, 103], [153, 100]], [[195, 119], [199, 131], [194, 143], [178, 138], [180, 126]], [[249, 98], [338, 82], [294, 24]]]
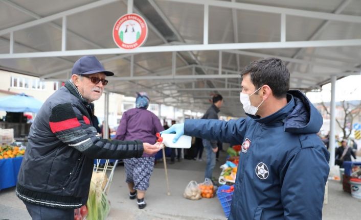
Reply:
[[[142, 140], [154, 144], [155, 134], [163, 131], [159, 118], [148, 111], [149, 97], [146, 92], [137, 93], [136, 108], [123, 113], [115, 139]], [[126, 182], [129, 188], [129, 199], [137, 198], [138, 207], [143, 209], [145, 192], [149, 187], [149, 179], [154, 168], [154, 155], [143, 154], [141, 158], [124, 160]]]

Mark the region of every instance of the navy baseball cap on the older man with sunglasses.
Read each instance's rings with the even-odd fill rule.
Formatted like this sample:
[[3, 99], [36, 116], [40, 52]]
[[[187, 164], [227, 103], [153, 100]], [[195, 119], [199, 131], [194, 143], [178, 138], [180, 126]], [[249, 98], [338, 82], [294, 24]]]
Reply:
[[104, 69], [95, 56], [81, 57], [74, 63], [72, 70], [72, 74], [76, 75], [96, 74], [97, 72], [104, 72], [107, 77], [114, 76], [113, 72]]

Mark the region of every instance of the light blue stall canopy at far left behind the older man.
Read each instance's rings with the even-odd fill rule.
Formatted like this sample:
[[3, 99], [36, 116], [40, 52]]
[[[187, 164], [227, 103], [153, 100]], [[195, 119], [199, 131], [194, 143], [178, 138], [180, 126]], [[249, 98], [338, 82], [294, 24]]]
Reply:
[[37, 113], [42, 102], [24, 93], [9, 95], [0, 99], [0, 110], [8, 112], [34, 112]]

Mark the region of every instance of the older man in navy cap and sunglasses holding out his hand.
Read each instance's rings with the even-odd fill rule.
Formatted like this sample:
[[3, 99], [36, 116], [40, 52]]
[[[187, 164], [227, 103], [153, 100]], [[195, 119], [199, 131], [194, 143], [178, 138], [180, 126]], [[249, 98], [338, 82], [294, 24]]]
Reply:
[[159, 145], [97, 136], [89, 103], [114, 75], [94, 56], [75, 62], [71, 80], [52, 94], [30, 128], [16, 195], [33, 219], [74, 219], [86, 204], [95, 158], [125, 159], [154, 154]]

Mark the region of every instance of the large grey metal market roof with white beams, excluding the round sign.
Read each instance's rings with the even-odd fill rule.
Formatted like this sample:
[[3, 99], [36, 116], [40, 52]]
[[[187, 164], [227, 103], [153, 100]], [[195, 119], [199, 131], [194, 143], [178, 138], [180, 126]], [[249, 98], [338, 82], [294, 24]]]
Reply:
[[[124, 50], [112, 29], [131, 12], [149, 33]], [[359, 75], [360, 49], [357, 0], [0, 1], [0, 69], [64, 81], [79, 57], [96, 55], [115, 73], [110, 92], [146, 91], [153, 103], [202, 112], [220, 93], [221, 113], [235, 117], [244, 116], [239, 72], [251, 61], [281, 58], [290, 88], [310, 91]]]

